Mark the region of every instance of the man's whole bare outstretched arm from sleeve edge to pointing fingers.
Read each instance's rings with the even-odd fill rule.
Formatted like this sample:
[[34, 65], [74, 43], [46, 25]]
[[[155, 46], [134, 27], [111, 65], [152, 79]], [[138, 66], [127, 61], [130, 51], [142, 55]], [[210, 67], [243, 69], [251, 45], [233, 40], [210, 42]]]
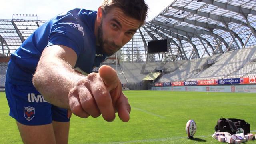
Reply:
[[51, 104], [70, 108], [82, 118], [102, 114], [106, 121], [112, 121], [117, 111], [120, 119], [127, 122], [130, 105], [116, 71], [102, 66], [99, 73], [83, 76], [73, 70], [76, 59], [74, 50], [66, 46], [45, 48], [33, 77], [36, 89]]

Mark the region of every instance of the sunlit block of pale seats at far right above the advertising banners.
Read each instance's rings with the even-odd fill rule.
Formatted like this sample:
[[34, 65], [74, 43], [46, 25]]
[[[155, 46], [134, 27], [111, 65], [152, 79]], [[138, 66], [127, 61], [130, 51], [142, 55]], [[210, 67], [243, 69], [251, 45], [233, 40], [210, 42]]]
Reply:
[[256, 48], [244, 48], [222, 54], [216, 63], [208, 69], [199, 72], [189, 80], [240, 78], [252, 71], [250, 60], [254, 59]]

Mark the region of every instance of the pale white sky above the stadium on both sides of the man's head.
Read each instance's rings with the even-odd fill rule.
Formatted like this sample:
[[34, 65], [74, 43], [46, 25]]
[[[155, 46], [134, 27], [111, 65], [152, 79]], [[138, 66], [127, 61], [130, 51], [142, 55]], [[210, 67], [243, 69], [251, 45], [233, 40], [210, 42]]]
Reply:
[[[173, 0], [145, 0], [148, 4], [148, 19], [152, 20]], [[4, 0], [0, 8], [0, 19], [11, 19], [13, 14], [37, 14], [40, 20], [49, 20], [53, 16], [73, 8], [98, 10], [102, 0]]]

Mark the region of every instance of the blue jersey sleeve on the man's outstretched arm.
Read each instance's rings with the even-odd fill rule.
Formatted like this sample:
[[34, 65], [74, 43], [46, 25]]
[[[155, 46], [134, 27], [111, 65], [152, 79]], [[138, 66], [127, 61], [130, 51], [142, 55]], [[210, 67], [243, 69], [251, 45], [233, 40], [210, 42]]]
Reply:
[[84, 48], [84, 31], [80, 24], [72, 22], [53, 24], [48, 40], [47, 46], [64, 45], [72, 48], [78, 56]]

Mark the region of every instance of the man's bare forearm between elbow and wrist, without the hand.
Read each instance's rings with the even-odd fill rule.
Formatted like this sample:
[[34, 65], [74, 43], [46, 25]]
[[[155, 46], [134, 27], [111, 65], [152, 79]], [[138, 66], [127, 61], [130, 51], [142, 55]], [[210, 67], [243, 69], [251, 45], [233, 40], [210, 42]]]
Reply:
[[68, 93], [82, 77], [66, 61], [52, 58], [38, 63], [33, 84], [51, 104], [69, 108]]

